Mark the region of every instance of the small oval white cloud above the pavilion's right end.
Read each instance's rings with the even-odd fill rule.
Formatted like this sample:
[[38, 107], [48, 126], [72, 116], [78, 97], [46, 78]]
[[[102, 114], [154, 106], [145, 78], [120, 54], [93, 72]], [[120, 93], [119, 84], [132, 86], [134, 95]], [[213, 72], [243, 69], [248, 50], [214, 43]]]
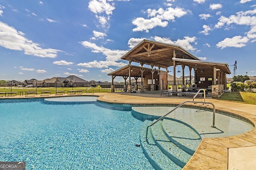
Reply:
[[247, 37], [235, 36], [232, 38], [225, 38], [223, 41], [220, 41], [216, 46], [224, 49], [226, 47], [244, 47], [249, 41]]

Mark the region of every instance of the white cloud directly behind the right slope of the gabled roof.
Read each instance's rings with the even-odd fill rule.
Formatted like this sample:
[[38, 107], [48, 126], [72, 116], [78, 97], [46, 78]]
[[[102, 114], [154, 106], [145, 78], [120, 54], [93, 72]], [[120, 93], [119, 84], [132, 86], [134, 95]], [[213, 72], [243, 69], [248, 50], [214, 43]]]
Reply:
[[185, 36], [184, 39], [177, 39], [177, 41], [172, 41], [170, 38], [165, 37], [153, 37], [155, 41], [163, 42], [163, 43], [169, 43], [173, 45], [179, 45], [180, 47], [188, 50], [188, 51], [196, 51], [196, 48], [191, 45], [191, 43], [196, 44], [196, 37], [188, 37]]

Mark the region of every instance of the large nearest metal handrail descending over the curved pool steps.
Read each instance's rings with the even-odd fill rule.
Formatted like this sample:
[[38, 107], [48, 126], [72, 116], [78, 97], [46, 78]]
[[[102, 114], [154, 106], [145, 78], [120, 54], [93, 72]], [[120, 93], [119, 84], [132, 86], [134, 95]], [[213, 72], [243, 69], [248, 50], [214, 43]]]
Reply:
[[[193, 100], [194, 100], [194, 98], [193, 98]], [[212, 104], [212, 103], [210, 103], [210, 102], [185, 101], [185, 102], [182, 102], [181, 104], [179, 104], [178, 106], [176, 106], [174, 109], [172, 109], [171, 111], [169, 111], [169, 112], [166, 113], [165, 115], [163, 115], [162, 117], [160, 117], [159, 119], [157, 119], [156, 121], [154, 121], [153, 123], [151, 123], [151, 124], [147, 127], [147, 129], [146, 129], [146, 140], [148, 139], [148, 128], [149, 128], [149, 127], [153, 126], [153, 125], [156, 124], [158, 121], [164, 119], [164, 117], [166, 117], [167, 115], [169, 115], [170, 113], [172, 113], [174, 110], [178, 109], [180, 106], [182, 106], [182, 105], [185, 104], [185, 103], [211, 104], [212, 107], [213, 107], [213, 118], [212, 118], [212, 126], [211, 126], [211, 127], [216, 128], [216, 126], [215, 126], [215, 106], [214, 106], [214, 104]]]

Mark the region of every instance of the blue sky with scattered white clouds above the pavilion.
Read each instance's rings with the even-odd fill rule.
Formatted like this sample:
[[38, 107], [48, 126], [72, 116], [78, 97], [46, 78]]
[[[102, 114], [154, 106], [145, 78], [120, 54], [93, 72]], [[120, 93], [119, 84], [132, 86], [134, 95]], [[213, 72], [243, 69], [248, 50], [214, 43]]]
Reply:
[[255, 2], [0, 0], [0, 80], [111, 81], [107, 74], [128, 64], [120, 58], [143, 39], [228, 63], [232, 74], [237, 61], [237, 75], [256, 76]]

